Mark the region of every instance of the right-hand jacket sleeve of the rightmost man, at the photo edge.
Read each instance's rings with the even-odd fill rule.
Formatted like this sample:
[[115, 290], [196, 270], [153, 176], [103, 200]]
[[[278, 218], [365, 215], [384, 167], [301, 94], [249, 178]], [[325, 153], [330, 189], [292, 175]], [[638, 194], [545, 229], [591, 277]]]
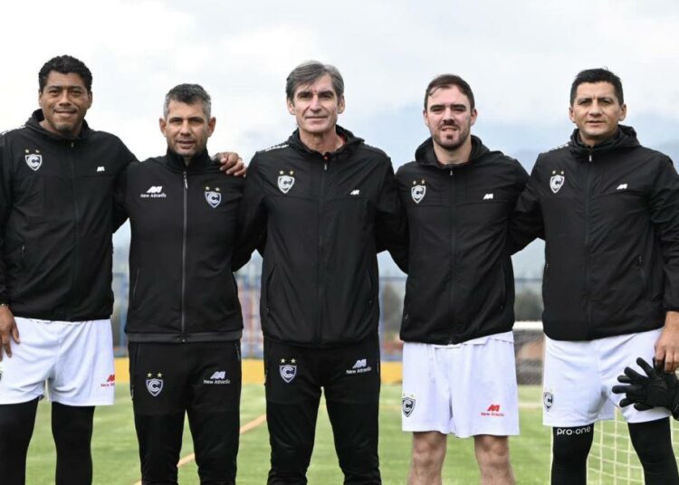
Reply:
[[672, 160], [661, 163], [648, 199], [665, 271], [665, 311], [679, 311], [679, 176]]

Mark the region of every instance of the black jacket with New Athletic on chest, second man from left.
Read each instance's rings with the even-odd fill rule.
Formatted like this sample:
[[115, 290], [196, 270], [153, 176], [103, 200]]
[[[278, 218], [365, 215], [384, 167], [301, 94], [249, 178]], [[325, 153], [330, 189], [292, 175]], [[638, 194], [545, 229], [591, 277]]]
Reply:
[[130, 342], [241, 338], [232, 256], [243, 189], [243, 178], [225, 176], [207, 152], [187, 167], [169, 150], [128, 167], [116, 200], [132, 232]]

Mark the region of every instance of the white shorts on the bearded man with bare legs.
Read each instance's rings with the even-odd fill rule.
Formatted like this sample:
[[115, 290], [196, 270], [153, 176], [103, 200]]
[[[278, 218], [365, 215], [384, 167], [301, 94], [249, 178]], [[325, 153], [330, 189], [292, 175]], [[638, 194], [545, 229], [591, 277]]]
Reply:
[[512, 332], [455, 346], [403, 346], [402, 428], [461, 438], [519, 434]]

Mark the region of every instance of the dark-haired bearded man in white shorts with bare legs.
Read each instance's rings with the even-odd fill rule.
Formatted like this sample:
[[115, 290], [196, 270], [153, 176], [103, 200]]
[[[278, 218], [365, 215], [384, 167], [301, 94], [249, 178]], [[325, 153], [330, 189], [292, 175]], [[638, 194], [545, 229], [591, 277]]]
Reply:
[[408, 483], [441, 483], [448, 434], [473, 436], [482, 483], [513, 483], [508, 436], [519, 433], [509, 216], [528, 175], [471, 134], [477, 112], [454, 74], [429, 83], [431, 133], [397, 182], [410, 243], [403, 347]]

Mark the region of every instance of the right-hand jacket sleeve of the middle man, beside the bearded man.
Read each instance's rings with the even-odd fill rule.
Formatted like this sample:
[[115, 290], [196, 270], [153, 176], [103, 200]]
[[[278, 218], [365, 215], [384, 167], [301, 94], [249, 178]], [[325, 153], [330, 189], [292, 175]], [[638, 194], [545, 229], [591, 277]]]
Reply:
[[406, 213], [401, 206], [398, 185], [391, 160], [387, 158], [378, 194], [375, 231], [377, 251], [388, 250], [401, 271], [407, 272], [408, 231]]

